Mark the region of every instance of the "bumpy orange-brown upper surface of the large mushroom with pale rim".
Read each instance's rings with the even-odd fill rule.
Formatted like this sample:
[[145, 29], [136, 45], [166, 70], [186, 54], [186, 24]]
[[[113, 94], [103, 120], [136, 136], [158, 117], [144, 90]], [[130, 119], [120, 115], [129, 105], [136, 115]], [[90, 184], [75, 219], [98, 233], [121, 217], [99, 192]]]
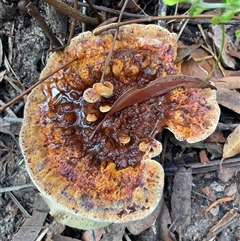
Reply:
[[[200, 107], [194, 104], [194, 110], [206, 116], [194, 121], [194, 133], [201, 136], [207, 126], [209, 134], [216, 125], [207, 115], [217, 107], [214, 98], [206, 105], [204, 89], [177, 88], [114, 113], [91, 137], [106, 114], [101, 111], [104, 106], [110, 109], [132, 87], [145, 87], [158, 77], [180, 73], [174, 64], [175, 34], [156, 25], [123, 26], [105, 69], [107, 84], [102, 88], [105, 91], [110, 86], [113, 93], [99, 94], [96, 86], [114, 33], [82, 33], [63, 52], [51, 56], [41, 77], [76, 60], [29, 95], [20, 145], [30, 177], [44, 196], [68, 213], [97, 222], [122, 223], [148, 216], [161, 199], [164, 173], [151, 159], [161, 152], [161, 144], [154, 139], [156, 132], [175, 128], [174, 113], [182, 125], [184, 120], [189, 122], [189, 115], [194, 115], [189, 108], [200, 96]], [[90, 101], [84, 98], [86, 90]], [[208, 89], [206, 95], [214, 97], [214, 91]], [[185, 110], [184, 116], [180, 109]], [[217, 119], [216, 113], [213, 116]], [[203, 124], [198, 125], [198, 121]], [[182, 127], [186, 135], [181, 136], [178, 128], [176, 137], [190, 138], [188, 122], [185, 129]]]

